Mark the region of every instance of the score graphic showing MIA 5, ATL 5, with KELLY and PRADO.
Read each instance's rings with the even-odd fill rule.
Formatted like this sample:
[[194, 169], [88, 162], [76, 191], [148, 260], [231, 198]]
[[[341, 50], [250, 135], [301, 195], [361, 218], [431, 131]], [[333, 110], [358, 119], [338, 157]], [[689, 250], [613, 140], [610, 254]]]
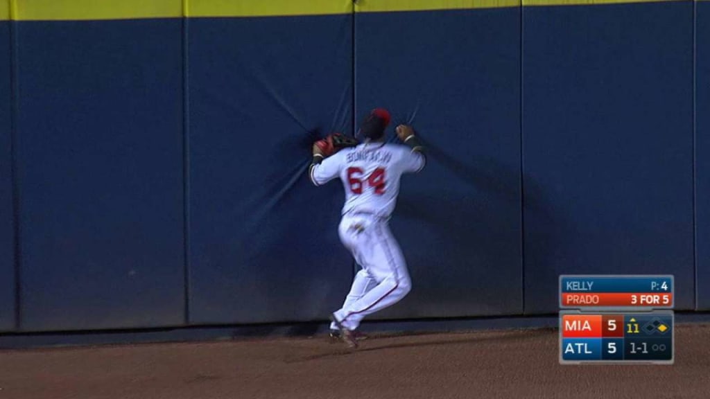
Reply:
[[561, 364], [673, 364], [673, 276], [562, 275]]

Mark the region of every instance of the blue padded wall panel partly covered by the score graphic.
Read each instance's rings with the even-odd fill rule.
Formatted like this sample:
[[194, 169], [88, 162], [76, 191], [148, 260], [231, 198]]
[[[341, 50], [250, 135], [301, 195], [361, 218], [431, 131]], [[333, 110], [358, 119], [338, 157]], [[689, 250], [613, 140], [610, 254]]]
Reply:
[[523, 10], [525, 313], [559, 274], [672, 274], [694, 308], [690, 1]]

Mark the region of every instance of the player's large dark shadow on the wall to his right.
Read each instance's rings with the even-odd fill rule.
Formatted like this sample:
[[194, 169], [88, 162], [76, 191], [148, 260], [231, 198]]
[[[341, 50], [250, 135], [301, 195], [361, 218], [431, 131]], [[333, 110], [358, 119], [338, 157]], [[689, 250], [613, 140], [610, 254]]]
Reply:
[[413, 292], [384, 316], [516, 315], [525, 301], [542, 301], [555, 312], [555, 292], [523, 287], [526, 275], [557, 278], [555, 248], [567, 238], [546, 227], [569, 231], [544, 188], [525, 176], [521, 192], [518, 168], [494, 158], [462, 160], [435, 143], [424, 144], [430, 170], [420, 177], [430, 193], [408, 190], [409, 181], [403, 182], [393, 218]]

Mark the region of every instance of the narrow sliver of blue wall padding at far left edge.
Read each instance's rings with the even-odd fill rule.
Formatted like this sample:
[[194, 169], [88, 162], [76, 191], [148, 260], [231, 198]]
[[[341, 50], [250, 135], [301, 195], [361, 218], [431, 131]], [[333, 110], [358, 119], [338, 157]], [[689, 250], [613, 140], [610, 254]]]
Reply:
[[10, 23], [0, 21], [0, 331], [15, 328]]

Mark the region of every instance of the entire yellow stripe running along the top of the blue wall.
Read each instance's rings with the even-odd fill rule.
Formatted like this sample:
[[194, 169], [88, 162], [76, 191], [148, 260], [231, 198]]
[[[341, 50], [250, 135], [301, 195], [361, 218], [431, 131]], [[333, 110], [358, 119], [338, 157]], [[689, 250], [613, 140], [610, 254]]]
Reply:
[[[307, 16], [391, 11], [495, 9], [521, 0], [0, 0], [0, 21]], [[523, 6], [652, 3], [687, 0], [522, 0]], [[710, 0], [696, 0], [710, 1]]]

